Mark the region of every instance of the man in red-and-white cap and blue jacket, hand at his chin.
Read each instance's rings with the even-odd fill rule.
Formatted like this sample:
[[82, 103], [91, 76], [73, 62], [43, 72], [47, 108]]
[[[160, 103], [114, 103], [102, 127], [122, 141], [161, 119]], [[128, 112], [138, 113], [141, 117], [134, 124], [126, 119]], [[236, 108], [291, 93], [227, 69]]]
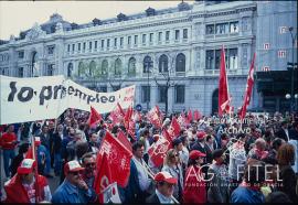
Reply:
[[93, 203], [97, 199], [94, 190], [81, 176], [84, 170], [76, 160], [65, 163], [65, 180], [54, 192], [52, 203]]

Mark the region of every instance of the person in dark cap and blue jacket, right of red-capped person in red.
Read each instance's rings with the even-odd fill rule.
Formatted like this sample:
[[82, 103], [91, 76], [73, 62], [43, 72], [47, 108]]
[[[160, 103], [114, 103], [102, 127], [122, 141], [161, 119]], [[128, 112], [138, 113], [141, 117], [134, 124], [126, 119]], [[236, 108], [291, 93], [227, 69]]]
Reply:
[[227, 203], [230, 196], [230, 180], [227, 168], [224, 164], [225, 153], [222, 149], [212, 152], [213, 163], [207, 170], [210, 182], [207, 190], [209, 203]]

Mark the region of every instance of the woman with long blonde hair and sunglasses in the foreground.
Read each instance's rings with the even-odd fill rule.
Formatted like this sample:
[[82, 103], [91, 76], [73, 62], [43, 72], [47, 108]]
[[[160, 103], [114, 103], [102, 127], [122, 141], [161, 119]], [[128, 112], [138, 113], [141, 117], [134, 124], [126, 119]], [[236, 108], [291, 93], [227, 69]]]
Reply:
[[174, 149], [170, 149], [167, 152], [161, 171], [169, 172], [173, 177], [178, 180], [178, 183], [174, 185], [173, 196], [179, 202], [181, 202], [183, 192], [183, 170], [180, 155]]

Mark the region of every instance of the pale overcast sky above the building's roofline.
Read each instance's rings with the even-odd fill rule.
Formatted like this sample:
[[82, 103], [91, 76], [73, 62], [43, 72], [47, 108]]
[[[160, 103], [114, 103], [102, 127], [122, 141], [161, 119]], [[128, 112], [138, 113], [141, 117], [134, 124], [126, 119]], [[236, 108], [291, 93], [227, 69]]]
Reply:
[[[91, 22], [94, 18], [115, 18], [120, 12], [134, 14], [148, 7], [163, 9], [177, 7], [181, 1], [0, 1], [0, 39], [19, 36], [38, 22], [42, 24], [57, 12], [65, 21]], [[189, 1], [192, 3], [192, 1]]]

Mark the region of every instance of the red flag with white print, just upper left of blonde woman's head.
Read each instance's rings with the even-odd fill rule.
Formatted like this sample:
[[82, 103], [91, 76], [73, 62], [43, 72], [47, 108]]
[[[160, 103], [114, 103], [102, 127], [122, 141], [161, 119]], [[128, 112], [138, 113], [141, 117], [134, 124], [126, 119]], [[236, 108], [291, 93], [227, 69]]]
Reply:
[[148, 149], [148, 154], [156, 166], [162, 165], [170, 145], [171, 143], [162, 137]]

